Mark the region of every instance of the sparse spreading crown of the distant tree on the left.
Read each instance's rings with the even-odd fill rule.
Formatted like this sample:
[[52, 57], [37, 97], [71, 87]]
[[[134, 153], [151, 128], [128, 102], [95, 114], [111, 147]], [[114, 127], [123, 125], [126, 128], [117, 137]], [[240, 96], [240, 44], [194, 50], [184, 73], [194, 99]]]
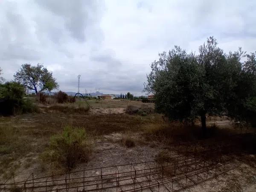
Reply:
[[52, 72], [41, 64], [36, 66], [23, 64], [20, 70], [15, 73], [14, 78], [15, 81], [23, 84], [27, 90], [35, 90], [35, 93], [38, 93], [38, 87], [40, 91], [51, 91], [58, 88], [58, 83], [53, 78]]

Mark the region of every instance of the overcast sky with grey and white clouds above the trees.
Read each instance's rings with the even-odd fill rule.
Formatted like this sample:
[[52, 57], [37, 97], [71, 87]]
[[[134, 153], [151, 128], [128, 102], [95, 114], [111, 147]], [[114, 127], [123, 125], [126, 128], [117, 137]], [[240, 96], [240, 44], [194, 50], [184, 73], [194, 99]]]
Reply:
[[214, 36], [228, 52], [256, 51], [255, 0], [0, 0], [0, 67], [12, 80], [43, 63], [60, 89], [141, 95], [150, 64], [175, 45]]

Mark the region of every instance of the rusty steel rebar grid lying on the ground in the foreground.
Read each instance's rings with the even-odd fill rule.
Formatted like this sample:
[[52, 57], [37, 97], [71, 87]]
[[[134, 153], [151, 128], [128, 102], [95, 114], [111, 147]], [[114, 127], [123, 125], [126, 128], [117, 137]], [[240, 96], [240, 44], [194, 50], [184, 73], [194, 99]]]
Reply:
[[[227, 147], [225, 150], [227, 151]], [[179, 144], [167, 162], [146, 161], [119, 166], [107, 166], [67, 174], [35, 178], [32, 173], [26, 180], [15, 181], [12, 176], [0, 184], [1, 191], [14, 186], [25, 192], [75, 191], [177, 191], [203, 182], [233, 169], [231, 159], [221, 154], [216, 145], [207, 149], [195, 143]]]

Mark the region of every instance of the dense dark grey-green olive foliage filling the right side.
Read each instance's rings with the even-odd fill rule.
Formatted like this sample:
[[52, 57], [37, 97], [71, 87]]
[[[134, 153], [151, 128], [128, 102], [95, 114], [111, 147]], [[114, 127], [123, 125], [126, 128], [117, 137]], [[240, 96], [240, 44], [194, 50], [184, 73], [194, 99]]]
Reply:
[[203, 130], [206, 114], [252, 119], [246, 114], [256, 114], [255, 53], [239, 48], [225, 54], [217, 45], [210, 37], [198, 55], [177, 46], [159, 54], [144, 84], [154, 94], [156, 111], [180, 121], [193, 122], [199, 116]]

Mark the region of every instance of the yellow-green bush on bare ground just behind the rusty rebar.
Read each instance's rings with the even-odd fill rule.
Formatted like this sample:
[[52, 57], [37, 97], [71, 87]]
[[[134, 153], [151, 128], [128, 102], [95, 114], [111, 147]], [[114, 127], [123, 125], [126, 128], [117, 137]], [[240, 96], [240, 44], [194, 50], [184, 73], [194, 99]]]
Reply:
[[66, 126], [61, 134], [50, 138], [49, 147], [41, 158], [55, 167], [71, 169], [76, 163], [87, 162], [92, 150], [84, 128]]

